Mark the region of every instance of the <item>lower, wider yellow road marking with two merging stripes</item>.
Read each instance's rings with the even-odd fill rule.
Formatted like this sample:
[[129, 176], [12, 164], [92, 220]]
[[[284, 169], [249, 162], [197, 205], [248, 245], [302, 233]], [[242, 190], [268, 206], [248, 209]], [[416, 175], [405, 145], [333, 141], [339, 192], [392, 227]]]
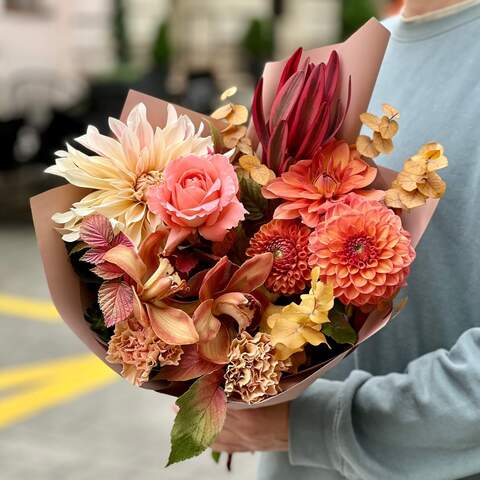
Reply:
[[92, 354], [0, 370], [0, 428], [109, 385], [118, 378]]

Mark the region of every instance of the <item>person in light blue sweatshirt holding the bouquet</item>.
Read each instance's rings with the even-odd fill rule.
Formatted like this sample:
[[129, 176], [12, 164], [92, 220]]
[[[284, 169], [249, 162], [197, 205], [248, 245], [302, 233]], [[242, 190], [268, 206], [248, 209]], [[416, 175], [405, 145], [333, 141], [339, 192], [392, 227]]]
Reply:
[[299, 399], [229, 412], [219, 450], [262, 451], [259, 480], [480, 479], [480, 0], [406, 0], [369, 111], [401, 112], [401, 170], [445, 146], [447, 193], [407, 308]]

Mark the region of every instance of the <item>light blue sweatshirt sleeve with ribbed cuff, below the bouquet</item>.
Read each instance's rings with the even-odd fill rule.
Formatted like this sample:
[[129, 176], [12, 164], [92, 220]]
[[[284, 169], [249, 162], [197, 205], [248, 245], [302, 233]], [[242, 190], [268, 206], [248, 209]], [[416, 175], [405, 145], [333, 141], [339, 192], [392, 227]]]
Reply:
[[290, 463], [349, 480], [442, 480], [480, 472], [480, 328], [405, 373], [318, 380], [290, 407]]

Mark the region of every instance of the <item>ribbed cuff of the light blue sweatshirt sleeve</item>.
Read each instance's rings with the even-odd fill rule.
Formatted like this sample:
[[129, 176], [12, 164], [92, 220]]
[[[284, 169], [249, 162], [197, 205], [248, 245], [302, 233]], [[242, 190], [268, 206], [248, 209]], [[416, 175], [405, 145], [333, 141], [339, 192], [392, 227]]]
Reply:
[[339, 465], [337, 416], [343, 382], [317, 380], [290, 404], [289, 459], [292, 465], [335, 470]]

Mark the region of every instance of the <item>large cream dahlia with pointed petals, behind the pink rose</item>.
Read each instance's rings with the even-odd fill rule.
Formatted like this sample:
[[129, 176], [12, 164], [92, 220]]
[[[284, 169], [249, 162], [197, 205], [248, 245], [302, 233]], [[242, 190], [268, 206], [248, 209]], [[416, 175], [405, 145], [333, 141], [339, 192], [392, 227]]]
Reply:
[[60, 230], [65, 241], [79, 238], [80, 220], [92, 214], [102, 214], [138, 246], [143, 238], [156, 230], [160, 219], [148, 210], [145, 192], [157, 185], [166, 165], [186, 155], [204, 155], [212, 147], [210, 137], [200, 136], [192, 121], [178, 116], [168, 106], [164, 128], [153, 128], [147, 120], [143, 103], [130, 112], [127, 123], [110, 118], [115, 138], [101, 135], [88, 127], [86, 135], [76, 141], [92, 150], [86, 155], [67, 145], [67, 151], [57, 152], [55, 165], [46, 172], [59, 175], [71, 184], [93, 190], [72, 208], [54, 215], [63, 225]]

